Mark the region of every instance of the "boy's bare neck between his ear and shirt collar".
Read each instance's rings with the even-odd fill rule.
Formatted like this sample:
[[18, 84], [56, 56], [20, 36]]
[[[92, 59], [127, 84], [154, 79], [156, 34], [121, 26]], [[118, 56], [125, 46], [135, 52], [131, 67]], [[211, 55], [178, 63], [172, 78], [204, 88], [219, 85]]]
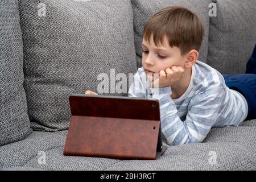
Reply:
[[192, 68], [185, 69], [184, 77], [171, 86], [172, 99], [180, 98], [183, 95], [183, 93], [188, 89], [189, 82], [191, 80], [191, 74], [192, 74]]

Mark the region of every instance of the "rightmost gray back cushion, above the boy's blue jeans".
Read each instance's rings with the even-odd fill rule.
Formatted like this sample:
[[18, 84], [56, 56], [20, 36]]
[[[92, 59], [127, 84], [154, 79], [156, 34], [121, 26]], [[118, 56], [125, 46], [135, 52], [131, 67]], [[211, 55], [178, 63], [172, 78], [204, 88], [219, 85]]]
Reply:
[[222, 74], [245, 73], [256, 43], [256, 1], [217, 0], [210, 17], [207, 63]]

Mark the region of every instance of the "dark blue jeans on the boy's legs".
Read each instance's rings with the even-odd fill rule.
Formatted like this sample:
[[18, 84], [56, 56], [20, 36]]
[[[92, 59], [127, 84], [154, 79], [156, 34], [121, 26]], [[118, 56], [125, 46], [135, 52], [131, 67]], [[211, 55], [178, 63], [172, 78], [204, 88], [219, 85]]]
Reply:
[[245, 74], [223, 75], [226, 86], [245, 96], [248, 104], [247, 119], [256, 119], [256, 45], [246, 64]]

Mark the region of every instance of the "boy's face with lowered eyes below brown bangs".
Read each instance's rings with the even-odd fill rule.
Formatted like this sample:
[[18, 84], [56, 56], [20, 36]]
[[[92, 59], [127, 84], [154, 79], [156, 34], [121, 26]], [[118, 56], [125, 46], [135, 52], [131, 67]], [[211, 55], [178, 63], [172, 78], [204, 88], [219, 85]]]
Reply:
[[156, 47], [153, 36], [151, 36], [150, 43], [143, 38], [142, 49], [142, 66], [147, 74], [152, 72], [159, 73], [161, 70], [165, 71], [166, 68], [171, 68], [172, 66], [184, 68], [186, 57], [181, 56], [178, 47], [170, 47], [166, 37], [164, 37], [161, 47]]

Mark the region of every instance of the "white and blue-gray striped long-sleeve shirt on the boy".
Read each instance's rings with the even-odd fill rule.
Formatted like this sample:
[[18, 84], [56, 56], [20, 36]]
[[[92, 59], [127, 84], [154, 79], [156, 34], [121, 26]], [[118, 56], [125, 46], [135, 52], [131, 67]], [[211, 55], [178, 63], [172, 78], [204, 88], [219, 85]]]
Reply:
[[247, 117], [245, 97], [225, 85], [216, 69], [197, 60], [191, 80], [180, 98], [171, 98], [171, 86], [150, 88], [139, 68], [129, 88], [129, 97], [156, 98], [160, 104], [163, 135], [168, 144], [199, 143], [212, 127], [240, 126]]

